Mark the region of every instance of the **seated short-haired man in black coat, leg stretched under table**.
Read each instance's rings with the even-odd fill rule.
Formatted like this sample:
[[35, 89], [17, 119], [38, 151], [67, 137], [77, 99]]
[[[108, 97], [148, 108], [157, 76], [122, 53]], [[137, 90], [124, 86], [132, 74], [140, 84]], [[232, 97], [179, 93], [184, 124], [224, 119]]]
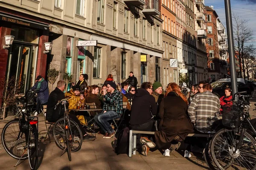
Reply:
[[[65, 99], [65, 95], [63, 93], [65, 89], [65, 81], [59, 80], [57, 82], [57, 87], [54, 91], [49, 95], [48, 103], [47, 103], [47, 110], [46, 110], [46, 120], [48, 122], [56, 122], [58, 119], [64, 116], [64, 110], [61, 109], [61, 106], [58, 105], [55, 110], [55, 105], [62, 99]], [[80, 124], [79, 120], [77, 119], [76, 115], [69, 114], [69, 117], [71, 120], [76, 122], [76, 124], [79, 126], [79, 129], [81, 130], [83, 134], [83, 140], [90, 142], [95, 140], [94, 136], [87, 135], [85, 129]]]

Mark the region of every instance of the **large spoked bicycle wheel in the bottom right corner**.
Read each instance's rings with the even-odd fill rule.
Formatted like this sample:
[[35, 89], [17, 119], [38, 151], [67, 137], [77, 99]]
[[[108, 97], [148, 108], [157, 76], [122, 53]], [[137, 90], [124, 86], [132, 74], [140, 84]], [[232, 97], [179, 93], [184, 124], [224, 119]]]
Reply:
[[244, 132], [241, 146], [234, 153], [239, 135], [234, 130], [219, 130], [212, 139], [211, 155], [216, 166], [221, 169], [256, 169], [256, 141]]

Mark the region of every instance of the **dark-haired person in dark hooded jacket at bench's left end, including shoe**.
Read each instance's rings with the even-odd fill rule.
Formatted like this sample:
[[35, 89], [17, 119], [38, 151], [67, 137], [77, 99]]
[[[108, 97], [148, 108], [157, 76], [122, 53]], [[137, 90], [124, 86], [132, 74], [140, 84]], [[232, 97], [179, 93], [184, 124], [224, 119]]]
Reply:
[[[133, 130], [152, 131], [154, 120], [153, 115], [157, 114], [157, 104], [152, 96], [153, 88], [150, 82], [143, 82], [133, 99], [131, 107], [131, 128]], [[148, 155], [149, 148], [155, 147], [154, 142], [147, 136], [140, 138], [142, 154]]]

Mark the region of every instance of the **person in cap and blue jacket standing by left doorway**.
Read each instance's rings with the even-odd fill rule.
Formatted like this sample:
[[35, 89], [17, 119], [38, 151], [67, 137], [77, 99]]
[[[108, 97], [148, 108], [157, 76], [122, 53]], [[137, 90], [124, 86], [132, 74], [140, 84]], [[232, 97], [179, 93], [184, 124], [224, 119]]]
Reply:
[[49, 98], [49, 88], [48, 83], [44, 80], [44, 78], [39, 75], [36, 79], [35, 85], [31, 88], [31, 90], [39, 89], [36, 91], [37, 93], [37, 105], [35, 109], [34, 116], [37, 116], [41, 105], [45, 105]]

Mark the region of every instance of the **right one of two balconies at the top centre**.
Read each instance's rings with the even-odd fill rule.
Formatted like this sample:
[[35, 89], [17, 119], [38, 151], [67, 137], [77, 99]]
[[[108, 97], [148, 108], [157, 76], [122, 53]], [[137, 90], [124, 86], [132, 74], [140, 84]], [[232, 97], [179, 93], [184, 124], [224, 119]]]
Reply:
[[158, 0], [146, 0], [142, 12], [148, 15], [160, 15]]

